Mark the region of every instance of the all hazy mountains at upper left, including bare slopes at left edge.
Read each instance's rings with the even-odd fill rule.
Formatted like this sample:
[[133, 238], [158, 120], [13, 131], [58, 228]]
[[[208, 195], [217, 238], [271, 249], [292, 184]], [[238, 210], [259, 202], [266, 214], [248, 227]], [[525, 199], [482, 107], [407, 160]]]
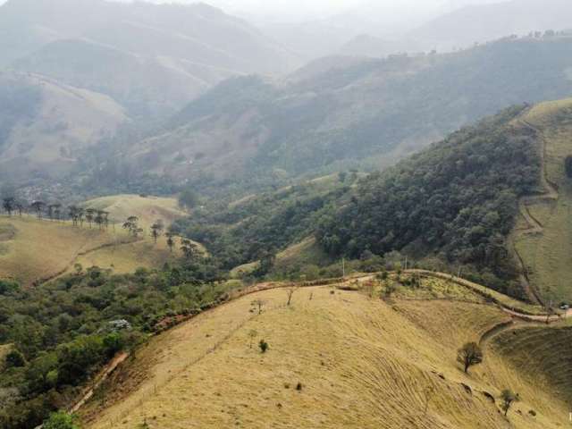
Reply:
[[161, 123], [232, 76], [299, 64], [206, 4], [9, 0], [0, 7], [0, 101], [11, 103], [0, 175], [61, 177], [116, 130]]

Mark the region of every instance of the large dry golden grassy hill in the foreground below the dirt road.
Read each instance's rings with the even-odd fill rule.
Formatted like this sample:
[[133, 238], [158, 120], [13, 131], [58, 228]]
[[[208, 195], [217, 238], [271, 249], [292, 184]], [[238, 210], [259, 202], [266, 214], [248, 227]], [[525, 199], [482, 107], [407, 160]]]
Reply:
[[[496, 307], [477, 297], [396, 298], [390, 306], [331, 291], [299, 290], [291, 307], [284, 290], [259, 292], [156, 337], [84, 410], [88, 428], [136, 428], [146, 419], [164, 429], [551, 428], [566, 422], [568, 408], [551, 397], [550, 386], [521, 378], [496, 348], [487, 349], [485, 364], [470, 375], [458, 367], [460, 344], [508, 320]], [[248, 311], [258, 298], [266, 301], [262, 315]], [[255, 344], [269, 342], [264, 356], [249, 348], [251, 330]], [[435, 395], [424, 415], [429, 386]], [[498, 397], [508, 387], [522, 396], [509, 415], [514, 426], [482, 393]]]

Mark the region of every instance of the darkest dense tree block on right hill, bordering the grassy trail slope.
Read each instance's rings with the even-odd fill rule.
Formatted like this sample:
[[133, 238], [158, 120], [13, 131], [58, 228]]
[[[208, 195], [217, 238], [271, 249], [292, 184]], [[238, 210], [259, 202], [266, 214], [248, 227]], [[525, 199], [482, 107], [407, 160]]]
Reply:
[[[333, 254], [359, 257], [402, 250], [469, 265], [481, 280], [516, 294], [507, 236], [518, 198], [538, 185], [536, 136], [510, 123], [524, 106], [504, 111], [387, 172], [363, 181], [350, 205], [316, 231]], [[507, 290], [508, 289], [508, 290]]]

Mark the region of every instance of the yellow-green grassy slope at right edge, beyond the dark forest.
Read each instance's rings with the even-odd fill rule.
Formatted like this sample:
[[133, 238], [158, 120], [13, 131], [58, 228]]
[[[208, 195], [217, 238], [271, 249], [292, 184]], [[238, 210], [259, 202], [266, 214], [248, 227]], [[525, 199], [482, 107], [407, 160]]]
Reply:
[[[572, 99], [535, 106], [526, 121], [543, 134], [546, 143], [544, 168], [547, 179], [558, 185], [559, 199], [537, 199], [528, 205], [543, 225], [540, 234], [519, 234], [517, 250], [530, 273], [531, 282], [544, 297], [572, 300], [568, 279], [572, 274], [572, 181], [564, 172], [564, 159], [572, 155]], [[521, 221], [517, 227], [522, 227]]]

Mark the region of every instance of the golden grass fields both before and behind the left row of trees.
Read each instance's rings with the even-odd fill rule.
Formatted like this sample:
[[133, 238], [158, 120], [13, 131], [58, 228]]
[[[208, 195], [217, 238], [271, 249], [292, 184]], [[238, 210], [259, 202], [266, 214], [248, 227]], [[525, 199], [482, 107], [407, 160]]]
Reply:
[[168, 225], [184, 215], [174, 198], [114, 196], [89, 201], [88, 206], [109, 211], [110, 218], [118, 219], [118, 223], [130, 214], [138, 215], [143, 236], [133, 239], [119, 224], [99, 231], [95, 225], [89, 228], [88, 223], [80, 228], [68, 222], [40, 222], [31, 215], [1, 216], [0, 278], [12, 278], [29, 286], [71, 272], [75, 264], [131, 273], [139, 267], [158, 267], [173, 257], [181, 257], [178, 244], [171, 253], [164, 237], [155, 244], [148, 231], [148, 226], [158, 219]]

